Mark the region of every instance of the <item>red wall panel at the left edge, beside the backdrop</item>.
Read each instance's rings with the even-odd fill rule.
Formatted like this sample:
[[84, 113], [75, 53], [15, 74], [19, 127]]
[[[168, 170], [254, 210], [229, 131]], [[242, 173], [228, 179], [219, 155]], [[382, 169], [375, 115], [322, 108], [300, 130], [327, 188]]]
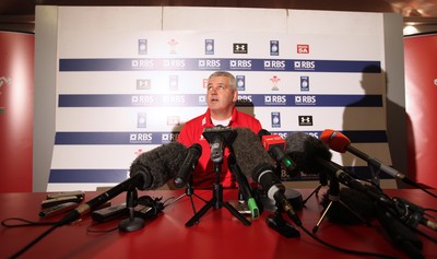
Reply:
[[0, 32], [0, 192], [32, 191], [34, 42]]

